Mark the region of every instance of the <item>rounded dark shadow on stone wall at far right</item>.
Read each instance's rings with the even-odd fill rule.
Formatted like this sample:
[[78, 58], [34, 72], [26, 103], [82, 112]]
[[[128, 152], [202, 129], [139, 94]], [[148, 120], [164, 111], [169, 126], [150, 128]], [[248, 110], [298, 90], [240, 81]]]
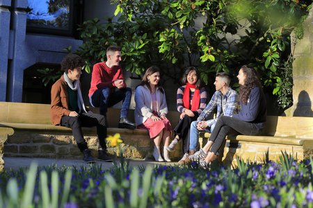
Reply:
[[298, 103], [294, 116], [313, 117], [312, 104], [309, 94], [305, 90], [301, 91], [298, 96]]

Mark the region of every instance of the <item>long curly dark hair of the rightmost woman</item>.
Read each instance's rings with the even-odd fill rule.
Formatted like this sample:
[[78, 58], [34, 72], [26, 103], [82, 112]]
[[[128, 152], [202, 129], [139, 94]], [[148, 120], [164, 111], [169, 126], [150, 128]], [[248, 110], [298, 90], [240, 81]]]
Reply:
[[240, 85], [239, 87], [239, 101], [247, 104], [251, 89], [261, 87], [261, 83], [259, 82], [258, 74], [255, 69], [243, 65], [241, 70], [246, 75], [246, 79], [244, 85]]

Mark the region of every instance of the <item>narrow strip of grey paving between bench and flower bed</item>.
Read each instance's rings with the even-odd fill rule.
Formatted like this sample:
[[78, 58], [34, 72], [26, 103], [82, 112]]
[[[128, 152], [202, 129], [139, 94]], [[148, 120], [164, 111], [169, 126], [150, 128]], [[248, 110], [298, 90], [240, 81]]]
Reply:
[[[40, 157], [4, 157], [4, 170], [18, 170], [19, 168], [27, 168], [31, 165], [32, 162], [36, 162], [38, 166], [51, 166], [56, 164], [57, 166], [77, 166], [77, 167], [89, 167], [90, 164], [86, 164], [81, 159], [51, 159], [51, 158], [40, 158]], [[118, 160], [115, 160], [118, 162]], [[107, 170], [113, 167], [113, 162], [102, 162], [97, 161], [95, 164], [102, 166], [103, 170]], [[134, 160], [129, 159], [129, 164], [133, 167], [138, 166], [155, 166], [155, 165], [166, 165], [166, 166], [175, 166], [177, 162], [155, 162], [147, 160]]]

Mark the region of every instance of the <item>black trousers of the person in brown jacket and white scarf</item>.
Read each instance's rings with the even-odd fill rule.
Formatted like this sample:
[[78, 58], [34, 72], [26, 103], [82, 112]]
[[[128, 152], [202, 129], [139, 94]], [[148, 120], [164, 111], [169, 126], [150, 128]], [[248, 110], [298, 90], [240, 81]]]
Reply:
[[106, 118], [103, 115], [95, 114], [91, 111], [79, 114], [79, 116], [62, 116], [61, 125], [72, 128], [73, 136], [77, 142], [79, 150], [83, 152], [88, 148], [81, 127], [97, 126], [97, 135], [99, 144], [103, 150], [106, 150]]

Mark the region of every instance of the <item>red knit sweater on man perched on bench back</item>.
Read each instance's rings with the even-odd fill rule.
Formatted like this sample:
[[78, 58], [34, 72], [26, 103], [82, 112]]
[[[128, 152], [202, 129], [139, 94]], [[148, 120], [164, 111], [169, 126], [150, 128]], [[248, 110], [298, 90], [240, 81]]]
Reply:
[[[93, 73], [91, 74], [91, 83], [88, 96], [92, 96], [97, 89], [104, 87], [115, 87], [115, 80], [124, 80], [122, 67], [114, 66], [109, 68], [105, 62], [99, 62], [93, 65]], [[126, 87], [124, 81], [123, 88]]]

